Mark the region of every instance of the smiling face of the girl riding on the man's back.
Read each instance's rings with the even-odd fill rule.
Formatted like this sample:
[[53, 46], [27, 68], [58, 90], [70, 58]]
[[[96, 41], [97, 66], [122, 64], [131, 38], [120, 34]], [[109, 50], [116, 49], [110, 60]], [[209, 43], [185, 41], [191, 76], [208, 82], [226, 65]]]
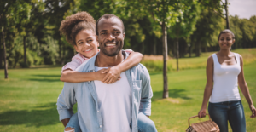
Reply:
[[96, 55], [98, 46], [96, 34], [91, 30], [82, 30], [77, 34], [74, 48], [84, 57], [91, 58]]

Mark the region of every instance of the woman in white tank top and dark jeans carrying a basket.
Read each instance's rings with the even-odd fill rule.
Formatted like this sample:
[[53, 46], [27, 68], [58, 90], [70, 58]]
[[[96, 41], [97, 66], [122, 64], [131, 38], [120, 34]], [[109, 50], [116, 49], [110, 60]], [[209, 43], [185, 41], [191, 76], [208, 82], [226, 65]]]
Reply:
[[256, 109], [243, 75], [241, 55], [230, 51], [235, 43], [235, 35], [225, 29], [218, 35], [220, 50], [207, 60], [207, 85], [199, 118], [208, 112], [212, 121], [218, 124], [220, 132], [228, 132], [228, 121], [233, 132], [246, 132], [246, 121], [237, 83], [241, 93], [247, 99], [252, 111], [251, 118], [256, 117]]

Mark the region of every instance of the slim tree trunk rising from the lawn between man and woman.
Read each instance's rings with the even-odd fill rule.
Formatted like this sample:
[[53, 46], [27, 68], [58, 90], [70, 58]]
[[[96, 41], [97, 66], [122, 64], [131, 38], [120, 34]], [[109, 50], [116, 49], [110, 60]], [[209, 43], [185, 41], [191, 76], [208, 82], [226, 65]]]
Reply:
[[163, 66], [163, 75], [164, 75], [164, 92], [163, 98], [168, 98], [168, 79], [167, 79], [167, 32], [166, 32], [166, 24], [163, 22], [162, 24], [162, 33], [163, 33], [163, 57], [164, 57], [164, 66]]

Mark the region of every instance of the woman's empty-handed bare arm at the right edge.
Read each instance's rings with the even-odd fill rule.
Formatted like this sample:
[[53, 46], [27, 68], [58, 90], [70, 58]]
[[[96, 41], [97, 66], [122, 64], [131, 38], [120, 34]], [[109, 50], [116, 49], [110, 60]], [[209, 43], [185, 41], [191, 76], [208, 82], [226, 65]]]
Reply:
[[241, 89], [242, 95], [244, 95], [245, 98], [247, 99], [249, 107], [250, 107], [250, 109], [252, 111], [251, 118], [255, 118], [256, 117], [256, 109], [253, 106], [253, 100], [251, 98], [251, 95], [250, 95], [250, 92], [249, 92], [249, 89], [248, 89], [248, 86], [247, 86], [247, 82], [245, 81], [245, 78], [244, 78], [244, 74], [243, 74], [243, 60], [242, 60], [241, 55], [240, 55], [240, 62], [241, 62], [240, 63], [241, 72], [238, 75], [238, 85], [239, 85], [239, 87]]

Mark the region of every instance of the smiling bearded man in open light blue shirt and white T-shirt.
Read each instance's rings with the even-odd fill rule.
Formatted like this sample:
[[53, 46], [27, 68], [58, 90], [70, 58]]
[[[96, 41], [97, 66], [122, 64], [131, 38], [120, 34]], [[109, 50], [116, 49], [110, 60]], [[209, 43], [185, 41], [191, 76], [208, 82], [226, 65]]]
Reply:
[[[127, 55], [121, 50], [124, 31], [119, 17], [104, 14], [96, 23], [96, 40], [101, 50], [76, 71], [94, 72], [125, 60]], [[152, 96], [148, 70], [139, 64], [122, 72], [121, 79], [113, 84], [100, 81], [65, 83], [57, 109], [60, 120], [64, 122], [73, 115], [72, 107], [77, 102], [79, 125], [83, 132], [137, 132], [138, 126], [148, 129], [143, 121], [149, 120], [145, 115], [149, 117], [151, 114]]]

